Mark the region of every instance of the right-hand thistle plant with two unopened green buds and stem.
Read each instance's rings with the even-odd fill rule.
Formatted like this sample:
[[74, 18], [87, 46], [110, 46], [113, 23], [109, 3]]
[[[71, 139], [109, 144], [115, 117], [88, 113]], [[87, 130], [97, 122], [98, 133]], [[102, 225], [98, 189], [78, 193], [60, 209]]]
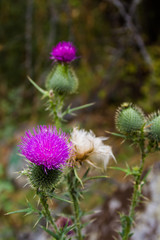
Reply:
[[119, 235], [122, 240], [128, 240], [134, 234], [132, 227], [135, 221], [136, 207], [143, 199], [142, 187], [145, 184], [147, 176], [147, 174], [145, 176], [142, 175], [145, 159], [150, 152], [159, 150], [159, 123], [159, 112], [146, 117], [143, 111], [132, 103], [123, 103], [116, 112], [115, 125], [120, 134], [112, 134], [124, 138], [125, 141], [130, 141], [132, 145], [136, 145], [141, 155], [138, 166], [131, 168], [127, 164], [127, 168], [112, 167], [125, 172], [127, 176], [130, 175], [134, 183], [129, 212], [127, 215], [120, 213], [122, 229]]

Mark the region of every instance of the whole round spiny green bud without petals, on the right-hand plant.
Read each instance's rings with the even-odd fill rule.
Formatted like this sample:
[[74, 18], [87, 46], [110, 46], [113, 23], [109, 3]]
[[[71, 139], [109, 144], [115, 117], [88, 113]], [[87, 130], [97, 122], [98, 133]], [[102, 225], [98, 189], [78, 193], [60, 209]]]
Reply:
[[123, 134], [135, 134], [145, 123], [142, 110], [132, 103], [123, 103], [115, 117], [116, 128]]

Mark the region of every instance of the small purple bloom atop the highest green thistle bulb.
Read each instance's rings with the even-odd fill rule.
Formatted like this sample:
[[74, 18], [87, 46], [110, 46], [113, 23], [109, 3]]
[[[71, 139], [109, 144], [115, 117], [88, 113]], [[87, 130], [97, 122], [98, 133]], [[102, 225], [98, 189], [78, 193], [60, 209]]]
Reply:
[[50, 59], [60, 62], [72, 62], [76, 57], [76, 48], [71, 42], [59, 42], [53, 47]]

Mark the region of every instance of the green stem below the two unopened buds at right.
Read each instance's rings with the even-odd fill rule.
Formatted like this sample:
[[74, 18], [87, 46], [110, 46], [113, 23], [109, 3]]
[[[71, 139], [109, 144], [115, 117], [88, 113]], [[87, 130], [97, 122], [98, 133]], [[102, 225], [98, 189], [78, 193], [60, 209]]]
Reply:
[[145, 161], [145, 157], [146, 157], [145, 149], [144, 149], [144, 140], [142, 140], [140, 142], [140, 149], [141, 149], [141, 163], [140, 163], [138, 173], [136, 174], [136, 176], [134, 176], [135, 183], [134, 183], [133, 195], [132, 195], [128, 218], [125, 222], [124, 229], [123, 229], [122, 240], [128, 240], [131, 236], [131, 227], [132, 227], [134, 217], [135, 217], [135, 208], [138, 205], [140, 197], [141, 197], [141, 191], [142, 191], [141, 176], [143, 173], [144, 161]]

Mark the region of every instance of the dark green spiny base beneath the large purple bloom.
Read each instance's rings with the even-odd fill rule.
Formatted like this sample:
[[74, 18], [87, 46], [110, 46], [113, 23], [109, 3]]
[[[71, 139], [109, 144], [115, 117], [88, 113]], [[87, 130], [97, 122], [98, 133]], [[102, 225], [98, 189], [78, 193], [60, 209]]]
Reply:
[[29, 180], [33, 188], [44, 192], [53, 191], [62, 172], [58, 169], [44, 169], [42, 165], [32, 164], [29, 167]]

